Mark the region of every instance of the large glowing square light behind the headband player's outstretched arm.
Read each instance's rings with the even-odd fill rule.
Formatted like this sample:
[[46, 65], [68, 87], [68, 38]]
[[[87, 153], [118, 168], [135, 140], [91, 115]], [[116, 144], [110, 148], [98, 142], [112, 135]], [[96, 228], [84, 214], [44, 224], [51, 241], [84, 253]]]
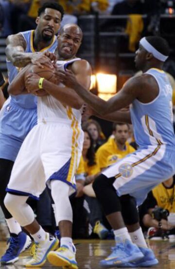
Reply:
[[117, 89], [117, 76], [111, 74], [96, 74], [98, 93], [116, 93]]

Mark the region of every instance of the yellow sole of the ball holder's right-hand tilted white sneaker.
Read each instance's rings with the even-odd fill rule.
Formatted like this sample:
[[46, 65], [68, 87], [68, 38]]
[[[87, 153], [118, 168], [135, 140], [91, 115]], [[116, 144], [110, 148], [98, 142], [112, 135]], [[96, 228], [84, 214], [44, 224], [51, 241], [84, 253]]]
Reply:
[[59, 257], [55, 252], [50, 252], [47, 255], [48, 261], [58, 267], [63, 267], [63, 269], [78, 269], [78, 266], [75, 264], [71, 264], [68, 260], [63, 257]]

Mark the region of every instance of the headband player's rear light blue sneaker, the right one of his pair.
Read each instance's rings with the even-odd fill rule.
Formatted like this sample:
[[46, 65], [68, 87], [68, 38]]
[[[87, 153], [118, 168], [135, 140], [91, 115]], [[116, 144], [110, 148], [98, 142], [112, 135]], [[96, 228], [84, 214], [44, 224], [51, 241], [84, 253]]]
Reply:
[[144, 257], [141, 258], [139, 261], [132, 262], [132, 263], [125, 263], [119, 267], [151, 267], [158, 264], [158, 260], [155, 257], [154, 252], [148, 248], [139, 248], [140, 251], [143, 253]]

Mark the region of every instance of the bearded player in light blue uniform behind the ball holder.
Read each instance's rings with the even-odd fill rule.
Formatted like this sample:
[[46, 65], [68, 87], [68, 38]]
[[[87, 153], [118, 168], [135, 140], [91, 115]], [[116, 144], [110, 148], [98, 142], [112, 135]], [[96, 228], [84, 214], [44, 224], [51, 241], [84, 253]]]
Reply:
[[[51, 52], [57, 48], [55, 34], [58, 33], [63, 15], [62, 6], [48, 1], [38, 10], [35, 30], [7, 38], [6, 55], [10, 84], [19, 69], [29, 63], [39, 67], [53, 67], [54, 56]], [[29, 236], [21, 231], [18, 222], [5, 208], [3, 200], [18, 151], [36, 123], [36, 97], [32, 94], [11, 95], [0, 111], [0, 206], [11, 233], [10, 245], [1, 257], [1, 264], [17, 261], [19, 253], [29, 245]]]

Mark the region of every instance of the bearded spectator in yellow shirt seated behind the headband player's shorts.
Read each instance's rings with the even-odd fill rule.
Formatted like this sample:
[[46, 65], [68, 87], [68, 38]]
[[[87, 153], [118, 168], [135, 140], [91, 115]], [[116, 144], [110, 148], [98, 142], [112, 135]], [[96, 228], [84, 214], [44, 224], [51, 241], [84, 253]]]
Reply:
[[108, 166], [107, 158], [113, 154], [119, 154], [125, 157], [135, 151], [135, 149], [127, 142], [129, 136], [129, 125], [126, 123], [114, 123], [114, 137], [110, 137], [97, 151], [97, 163], [100, 169]]

